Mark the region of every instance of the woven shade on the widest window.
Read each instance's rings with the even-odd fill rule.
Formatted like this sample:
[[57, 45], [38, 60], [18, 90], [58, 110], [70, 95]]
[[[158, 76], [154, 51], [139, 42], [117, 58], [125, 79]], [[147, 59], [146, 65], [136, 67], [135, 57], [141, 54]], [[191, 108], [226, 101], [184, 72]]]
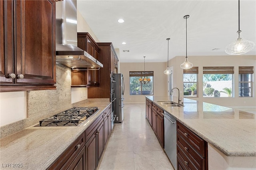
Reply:
[[203, 67], [203, 74], [234, 74], [234, 67]]

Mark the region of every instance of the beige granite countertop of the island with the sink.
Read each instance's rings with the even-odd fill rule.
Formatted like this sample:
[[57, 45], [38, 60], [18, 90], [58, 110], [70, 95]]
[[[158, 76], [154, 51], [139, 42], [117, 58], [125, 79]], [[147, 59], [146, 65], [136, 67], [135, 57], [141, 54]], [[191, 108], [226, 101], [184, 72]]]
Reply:
[[184, 107], [170, 107], [159, 102], [172, 101], [169, 96], [146, 97], [226, 156], [256, 156], [255, 108], [232, 109], [188, 98]]

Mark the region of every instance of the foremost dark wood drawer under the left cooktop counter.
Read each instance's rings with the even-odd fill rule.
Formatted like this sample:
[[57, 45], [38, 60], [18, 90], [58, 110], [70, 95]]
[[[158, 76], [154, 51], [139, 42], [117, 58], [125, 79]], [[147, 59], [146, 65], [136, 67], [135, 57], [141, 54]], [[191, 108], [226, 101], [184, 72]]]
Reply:
[[84, 148], [85, 139], [82, 133], [48, 168], [48, 170], [66, 169]]

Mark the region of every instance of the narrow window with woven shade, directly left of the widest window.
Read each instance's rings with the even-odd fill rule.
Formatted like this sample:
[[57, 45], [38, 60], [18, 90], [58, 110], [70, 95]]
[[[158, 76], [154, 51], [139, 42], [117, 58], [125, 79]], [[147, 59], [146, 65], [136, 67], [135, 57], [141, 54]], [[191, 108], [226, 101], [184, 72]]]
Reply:
[[183, 93], [184, 97], [197, 97], [198, 67], [183, 70]]

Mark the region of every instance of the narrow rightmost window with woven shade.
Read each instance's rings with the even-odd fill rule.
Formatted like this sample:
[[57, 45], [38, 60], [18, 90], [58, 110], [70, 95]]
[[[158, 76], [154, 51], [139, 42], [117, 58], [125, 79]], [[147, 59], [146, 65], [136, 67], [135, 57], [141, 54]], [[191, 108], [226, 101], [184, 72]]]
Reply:
[[252, 97], [252, 74], [253, 66], [240, 66], [239, 69], [239, 97]]

